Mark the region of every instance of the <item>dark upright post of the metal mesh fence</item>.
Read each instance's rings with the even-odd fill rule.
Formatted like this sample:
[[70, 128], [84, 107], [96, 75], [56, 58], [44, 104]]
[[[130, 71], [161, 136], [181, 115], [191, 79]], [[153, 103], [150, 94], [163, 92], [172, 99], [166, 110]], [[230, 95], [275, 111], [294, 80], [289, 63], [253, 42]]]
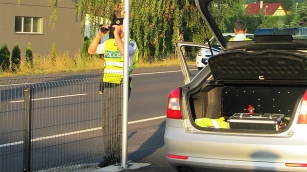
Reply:
[[31, 171], [31, 100], [32, 89], [24, 89], [23, 172]]

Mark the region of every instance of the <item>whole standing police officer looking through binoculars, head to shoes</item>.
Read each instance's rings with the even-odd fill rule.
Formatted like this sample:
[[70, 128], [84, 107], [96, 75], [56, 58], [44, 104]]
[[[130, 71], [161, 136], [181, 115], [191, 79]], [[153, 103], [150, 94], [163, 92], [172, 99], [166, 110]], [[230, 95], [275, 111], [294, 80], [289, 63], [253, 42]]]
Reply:
[[[98, 165], [105, 167], [120, 162], [121, 117], [122, 117], [122, 78], [124, 62], [124, 18], [116, 18], [110, 25], [102, 26], [92, 40], [88, 53], [104, 54], [103, 84], [104, 96], [103, 139], [106, 156]], [[99, 43], [101, 37], [112, 33], [114, 38]], [[125, 57], [126, 58], [126, 57]], [[134, 40], [129, 40], [129, 96], [131, 93], [131, 72], [138, 61], [138, 48]]]

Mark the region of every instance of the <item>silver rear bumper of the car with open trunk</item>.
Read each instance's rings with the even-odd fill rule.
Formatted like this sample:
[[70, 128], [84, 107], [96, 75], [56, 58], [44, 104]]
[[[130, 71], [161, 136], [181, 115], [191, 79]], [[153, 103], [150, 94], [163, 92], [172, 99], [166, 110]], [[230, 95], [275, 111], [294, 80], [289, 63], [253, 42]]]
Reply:
[[[299, 156], [299, 163], [307, 163], [307, 144], [295, 146], [285, 144], [270, 145], [271, 143], [250, 143], [253, 141], [247, 138], [245, 141], [238, 140], [238, 137], [225, 137], [223, 134], [200, 134], [186, 131], [183, 126], [183, 120], [167, 119], [167, 126], [164, 134], [164, 142], [166, 147], [166, 155], [187, 156], [187, 159], [177, 159], [167, 157], [167, 161], [174, 167], [189, 167], [193, 171], [203, 171], [202, 168], [233, 170], [233, 171], [274, 171], [274, 172], [306, 172], [307, 167], [287, 167], [284, 155], [278, 154], [278, 149], [285, 148], [289, 157]], [[258, 138], [259, 139], [259, 138]], [[289, 140], [289, 138], [276, 138], [276, 142], [281, 139]], [[291, 138], [292, 140], [293, 138]], [[295, 140], [295, 139], [294, 139]], [[244, 143], [245, 142], [245, 143]], [[211, 145], [211, 146], [208, 146]], [[246, 158], [241, 158], [238, 150], [240, 147], [248, 146], [256, 151], [246, 153]], [[266, 147], [276, 150], [268, 151]], [[301, 151], [297, 151], [301, 150]], [[237, 153], [236, 153], [237, 151]], [[242, 151], [246, 151], [242, 149]], [[284, 151], [284, 150], [280, 150]], [[294, 153], [293, 153], [294, 151]], [[304, 158], [305, 151], [305, 158]], [[295, 153], [296, 152], [296, 153]], [[245, 154], [245, 153], [243, 153]], [[290, 155], [291, 154], [291, 155]], [[232, 158], [232, 159], [231, 159]], [[241, 158], [241, 159], [240, 159]], [[286, 157], [287, 158], [287, 157]], [[304, 160], [305, 159], [305, 160]], [[287, 162], [297, 162], [289, 158]]]

